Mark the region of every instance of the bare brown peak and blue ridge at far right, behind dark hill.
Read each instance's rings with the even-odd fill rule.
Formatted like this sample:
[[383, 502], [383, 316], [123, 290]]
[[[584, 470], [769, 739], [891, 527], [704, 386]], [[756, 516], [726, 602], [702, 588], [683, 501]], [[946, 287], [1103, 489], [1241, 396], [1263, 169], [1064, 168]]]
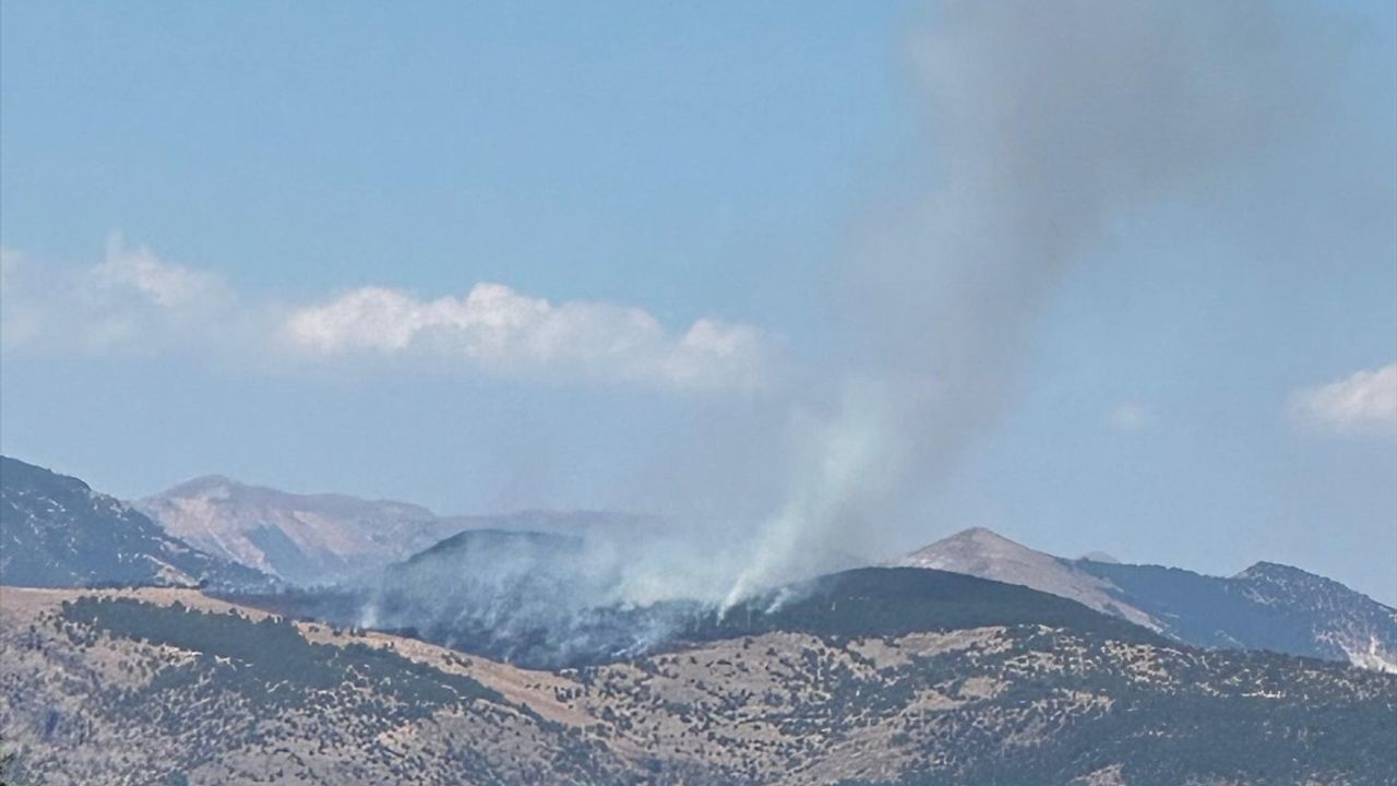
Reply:
[[1397, 610], [1298, 568], [1257, 562], [1236, 576], [1065, 559], [985, 529], [895, 564], [968, 573], [1070, 597], [1179, 642], [1270, 649], [1397, 673]]

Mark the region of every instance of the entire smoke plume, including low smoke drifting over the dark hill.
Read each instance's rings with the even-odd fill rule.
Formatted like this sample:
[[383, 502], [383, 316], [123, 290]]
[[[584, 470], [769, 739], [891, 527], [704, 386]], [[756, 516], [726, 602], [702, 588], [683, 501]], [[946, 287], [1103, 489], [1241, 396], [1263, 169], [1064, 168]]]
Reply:
[[[812, 372], [782, 408], [788, 488], [773, 515], [591, 531], [570, 547], [583, 557], [478, 543], [390, 576], [374, 624], [539, 663], [606, 657], [683, 629], [701, 604], [726, 610], [868, 554], [995, 425], [1041, 312], [1113, 222], [1245, 172], [1315, 110], [1331, 52], [1303, 21], [1260, 3], [937, 4], [909, 46], [923, 187], [866, 222], [835, 277], [831, 357], [855, 359]], [[455, 579], [475, 564], [488, 569]], [[515, 628], [529, 635], [500, 636]], [[538, 646], [490, 649], [517, 641]]]

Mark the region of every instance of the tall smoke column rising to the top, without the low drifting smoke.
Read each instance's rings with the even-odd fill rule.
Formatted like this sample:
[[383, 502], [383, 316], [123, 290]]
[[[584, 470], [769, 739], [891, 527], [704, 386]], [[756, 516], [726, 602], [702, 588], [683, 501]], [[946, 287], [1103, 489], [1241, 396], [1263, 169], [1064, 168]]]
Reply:
[[[935, 186], [849, 260], [865, 368], [812, 428], [729, 603], [856, 543], [933, 487], [1010, 400], [1034, 324], [1112, 221], [1189, 199], [1320, 105], [1333, 52], [1271, 3], [935, 7], [912, 56]], [[1306, 38], [1302, 41], [1302, 35]]]

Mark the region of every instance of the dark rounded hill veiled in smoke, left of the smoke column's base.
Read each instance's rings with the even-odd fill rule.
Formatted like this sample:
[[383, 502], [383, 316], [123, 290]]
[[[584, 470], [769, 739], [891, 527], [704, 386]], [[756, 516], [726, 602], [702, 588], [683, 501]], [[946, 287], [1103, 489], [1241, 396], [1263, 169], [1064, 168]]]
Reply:
[[236, 600], [531, 669], [581, 666], [644, 649], [696, 606], [622, 603], [623, 564], [610, 541], [467, 530], [372, 578]]

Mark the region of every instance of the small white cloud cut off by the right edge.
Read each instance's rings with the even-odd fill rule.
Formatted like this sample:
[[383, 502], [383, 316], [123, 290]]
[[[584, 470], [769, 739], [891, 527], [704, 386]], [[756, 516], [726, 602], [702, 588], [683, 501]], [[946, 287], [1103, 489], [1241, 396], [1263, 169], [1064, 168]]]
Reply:
[[1397, 434], [1397, 364], [1306, 387], [1291, 396], [1301, 422], [1337, 434]]

